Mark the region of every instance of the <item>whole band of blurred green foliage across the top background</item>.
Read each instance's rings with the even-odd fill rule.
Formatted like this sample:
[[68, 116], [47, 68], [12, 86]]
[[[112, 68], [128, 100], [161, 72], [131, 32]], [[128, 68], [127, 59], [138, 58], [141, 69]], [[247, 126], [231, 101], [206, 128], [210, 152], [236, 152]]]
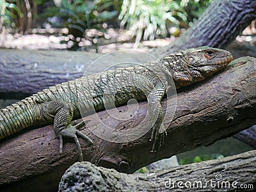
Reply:
[[[54, 3], [56, 5], [54, 5]], [[170, 33], [179, 36], [179, 27], [187, 28], [213, 0], [0, 0], [1, 26], [19, 28], [24, 33], [34, 19], [51, 22], [57, 28], [68, 28], [75, 44], [86, 29], [106, 29], [106, 24], [132, 31], [140, 40], [163, 38]], [[37, 6], [44, 12], [37, 15]], [[28, 10], [29, 7], [29, 10]], [[47, 9], [45, 10], [45, 7]], [[29, 12], [31, 16], [29, 17]], [[51, 17], [59, 17], [56, 22]], [[103, 23], [104, 27], [102, 26]], [[171, 27], [172, 32], [168, 31]], [[66, 42], [67, 43], [67, 42]]]

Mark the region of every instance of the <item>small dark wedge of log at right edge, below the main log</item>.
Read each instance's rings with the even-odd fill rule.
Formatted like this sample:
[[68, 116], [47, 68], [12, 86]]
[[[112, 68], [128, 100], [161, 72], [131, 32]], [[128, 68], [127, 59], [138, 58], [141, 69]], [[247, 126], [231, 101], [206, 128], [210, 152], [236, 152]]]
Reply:
[[256, 125], [238, 132], [234, 137], [256, 149]]

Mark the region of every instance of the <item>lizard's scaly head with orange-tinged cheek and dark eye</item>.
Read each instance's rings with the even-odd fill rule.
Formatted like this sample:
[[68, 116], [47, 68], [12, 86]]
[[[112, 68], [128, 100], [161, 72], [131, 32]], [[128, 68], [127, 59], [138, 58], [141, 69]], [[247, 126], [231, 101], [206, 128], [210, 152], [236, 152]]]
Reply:
[[212, 47], [197, 47], [166, 56], [173, 80], [179, 88], [202, 81], [226, 67], [233, 60], [229, 51]]

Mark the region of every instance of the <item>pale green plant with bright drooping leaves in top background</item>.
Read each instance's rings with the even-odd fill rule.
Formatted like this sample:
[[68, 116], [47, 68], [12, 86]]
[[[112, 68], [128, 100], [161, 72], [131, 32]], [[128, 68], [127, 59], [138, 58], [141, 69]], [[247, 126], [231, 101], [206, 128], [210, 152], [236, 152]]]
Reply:
[[118, 17], [121, 28], [125, 25], [136, 35], [134, 47], [144, 40], [154, 40], [155, 36], [166, 37], [168, 28], [179, 26], [179, 20], [186, 22], [186, 12], [178, 1], [172, 0], [124, 0]]

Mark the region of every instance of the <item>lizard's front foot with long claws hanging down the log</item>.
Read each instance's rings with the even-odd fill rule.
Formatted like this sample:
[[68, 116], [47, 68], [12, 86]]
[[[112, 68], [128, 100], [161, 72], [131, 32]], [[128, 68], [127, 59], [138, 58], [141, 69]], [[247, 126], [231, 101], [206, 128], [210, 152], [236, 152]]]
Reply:
[[154, 141], [154, 143], [150, 152], [157, 152], [157, 150], [159, 150], [163, 146], [164, 136], [167, 135], [167, 132], [165, 130], [166, 129], [163, 124], [160, 125], [159, 129], [157, 129], [157, 125], [153, 126], [150, 141]]

